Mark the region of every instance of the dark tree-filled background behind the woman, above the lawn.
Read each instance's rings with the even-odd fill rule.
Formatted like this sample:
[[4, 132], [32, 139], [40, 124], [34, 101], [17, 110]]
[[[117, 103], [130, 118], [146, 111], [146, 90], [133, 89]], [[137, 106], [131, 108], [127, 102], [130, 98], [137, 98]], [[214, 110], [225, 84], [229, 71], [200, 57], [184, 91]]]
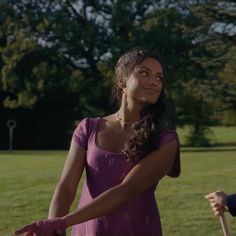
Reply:
[[235, 45], [233, 0], [1, 0], [0, 149], [11, 119], [15, 149], [68, 148], [79, 120], [117, 108], [114, 66], [133, 47], [160, 53], [183, 146], [235, 146], [211, 138], [236, 126]]

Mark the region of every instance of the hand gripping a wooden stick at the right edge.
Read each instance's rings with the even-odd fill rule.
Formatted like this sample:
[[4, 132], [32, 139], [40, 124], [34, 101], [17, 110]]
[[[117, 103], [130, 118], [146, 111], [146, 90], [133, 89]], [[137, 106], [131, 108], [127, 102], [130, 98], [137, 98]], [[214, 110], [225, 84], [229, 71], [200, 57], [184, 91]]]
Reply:
[[228, 211], [226, 206], [227, 194], [223, 191], [216, 191], [205, 196], [209, 200], [210, 205], [216, 216], [222, 216], [225, 211]]

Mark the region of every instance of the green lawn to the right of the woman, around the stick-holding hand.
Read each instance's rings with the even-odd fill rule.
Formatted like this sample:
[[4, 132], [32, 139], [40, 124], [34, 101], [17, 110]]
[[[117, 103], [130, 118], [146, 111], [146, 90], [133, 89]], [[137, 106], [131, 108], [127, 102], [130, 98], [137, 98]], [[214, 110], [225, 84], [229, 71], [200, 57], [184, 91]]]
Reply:
[[[204, 195], [219, 189], [236, 192], [236, 152], [184, 152], [181, 160], [181, 176], [166, 177], [158, 186], [164, 235], [223, 235]], [[235, 219], [227, 218], [232, 235], [236, 235]]]

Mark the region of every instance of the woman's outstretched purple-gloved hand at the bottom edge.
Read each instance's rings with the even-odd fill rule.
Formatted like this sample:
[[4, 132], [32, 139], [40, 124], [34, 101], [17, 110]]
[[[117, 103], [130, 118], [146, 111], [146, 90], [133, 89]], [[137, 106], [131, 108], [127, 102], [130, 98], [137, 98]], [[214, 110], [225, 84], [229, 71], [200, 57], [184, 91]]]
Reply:
[[24, 236], [62, 236], [65, 235], [66, 221], [63, 218], [35, 221], [15, 231], [15, 235]]

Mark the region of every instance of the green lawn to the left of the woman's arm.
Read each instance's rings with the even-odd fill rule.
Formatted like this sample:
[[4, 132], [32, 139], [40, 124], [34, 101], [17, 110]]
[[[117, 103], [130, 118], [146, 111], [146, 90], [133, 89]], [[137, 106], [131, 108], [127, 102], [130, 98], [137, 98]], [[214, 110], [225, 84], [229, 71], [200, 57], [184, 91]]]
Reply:
[[0, 154], [0, 235], [45, 218], [65, 152]]

